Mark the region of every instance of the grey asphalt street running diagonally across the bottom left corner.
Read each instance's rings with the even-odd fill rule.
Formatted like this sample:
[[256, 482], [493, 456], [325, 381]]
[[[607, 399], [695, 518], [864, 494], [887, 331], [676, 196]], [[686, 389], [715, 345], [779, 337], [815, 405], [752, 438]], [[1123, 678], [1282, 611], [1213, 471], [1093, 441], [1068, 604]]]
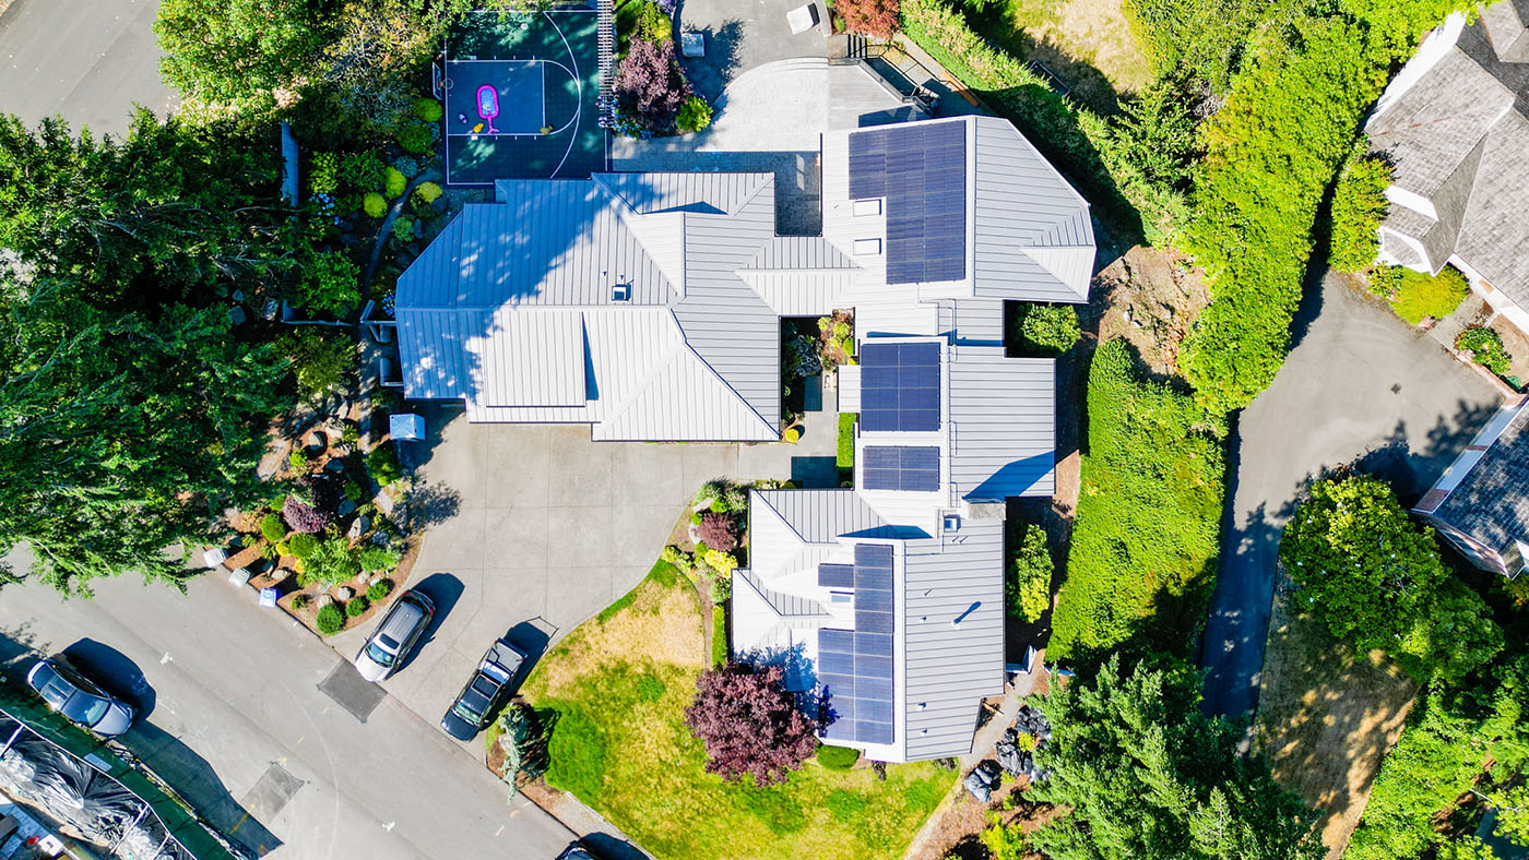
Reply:
[[93, 600], [0, 591], [8, 672], [24, 651], [66, 649], [147, 710], [130, 750], [278, 860], [552, 858], [573, 839], [523, 797], [506, 803], [477, 758], [249, 590], [202, 577], [182, 597], [124, 577]]

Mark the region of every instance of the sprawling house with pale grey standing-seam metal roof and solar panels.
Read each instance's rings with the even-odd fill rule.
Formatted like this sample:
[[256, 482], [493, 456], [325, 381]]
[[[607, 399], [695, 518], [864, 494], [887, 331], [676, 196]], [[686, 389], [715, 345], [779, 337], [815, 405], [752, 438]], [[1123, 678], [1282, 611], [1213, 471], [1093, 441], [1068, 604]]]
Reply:
[[1003, 515], [1053, 492], [1053, 367], [1008, 299], [1084, 302], [1089, 205], [1006, 121], [823, 139], [823, 234], [775, 234], [771, 174], [514, 180], [399, 278], [410, 399], [595, 440], [780, 438], [780, 318], [855, 310], [855, 489], [751, 493], [734, 651], [781, 661], [826, 739], [971, 750], [1003, 692]]

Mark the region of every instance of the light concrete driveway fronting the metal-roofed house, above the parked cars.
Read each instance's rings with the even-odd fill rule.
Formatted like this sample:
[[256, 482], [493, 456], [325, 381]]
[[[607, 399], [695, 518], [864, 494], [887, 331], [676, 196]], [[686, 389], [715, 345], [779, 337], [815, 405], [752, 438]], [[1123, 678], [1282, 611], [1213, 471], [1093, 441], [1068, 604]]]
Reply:
[[[411, 585], [434, 599], [437, 623], [382, 686], [434, 724], [494, 639], [540, 654], [636, 587], [700, 484], [820, 475], [823, 486], [826, 461], [836, 481], [829, 400], [798, 445], [590, 441], [584, 425], [474, 425], [430, 409], [443, 429], [419, 483], [436, 510]], [[353, 655], [375, 623], [330, 643]]]

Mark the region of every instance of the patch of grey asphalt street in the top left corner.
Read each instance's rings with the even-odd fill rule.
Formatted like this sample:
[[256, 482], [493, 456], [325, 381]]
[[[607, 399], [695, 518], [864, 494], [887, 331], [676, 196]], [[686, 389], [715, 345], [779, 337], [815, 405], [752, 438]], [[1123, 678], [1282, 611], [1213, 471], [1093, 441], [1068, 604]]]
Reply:
[[0, 0], [0, 113], [28, 125], [63, 116], [78, 131], [122, 134], [131, 104], [164, 116], [157, 0]]

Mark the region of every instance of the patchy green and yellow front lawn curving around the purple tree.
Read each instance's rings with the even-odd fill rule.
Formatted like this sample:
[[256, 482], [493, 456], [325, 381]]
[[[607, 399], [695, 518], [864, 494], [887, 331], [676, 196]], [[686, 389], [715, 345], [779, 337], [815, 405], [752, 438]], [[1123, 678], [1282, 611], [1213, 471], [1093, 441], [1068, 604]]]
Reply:
[[754, 788], [703, 770], [683, 710], [711, 657], [708, 623], [694, 588], [661, 564], [547, 652], [523, 690], [557, 713], [547, 782], [662, 860], [902, 857], [954, 771], [888, 765], [878, 782], [809, 761], [784, 785]]

